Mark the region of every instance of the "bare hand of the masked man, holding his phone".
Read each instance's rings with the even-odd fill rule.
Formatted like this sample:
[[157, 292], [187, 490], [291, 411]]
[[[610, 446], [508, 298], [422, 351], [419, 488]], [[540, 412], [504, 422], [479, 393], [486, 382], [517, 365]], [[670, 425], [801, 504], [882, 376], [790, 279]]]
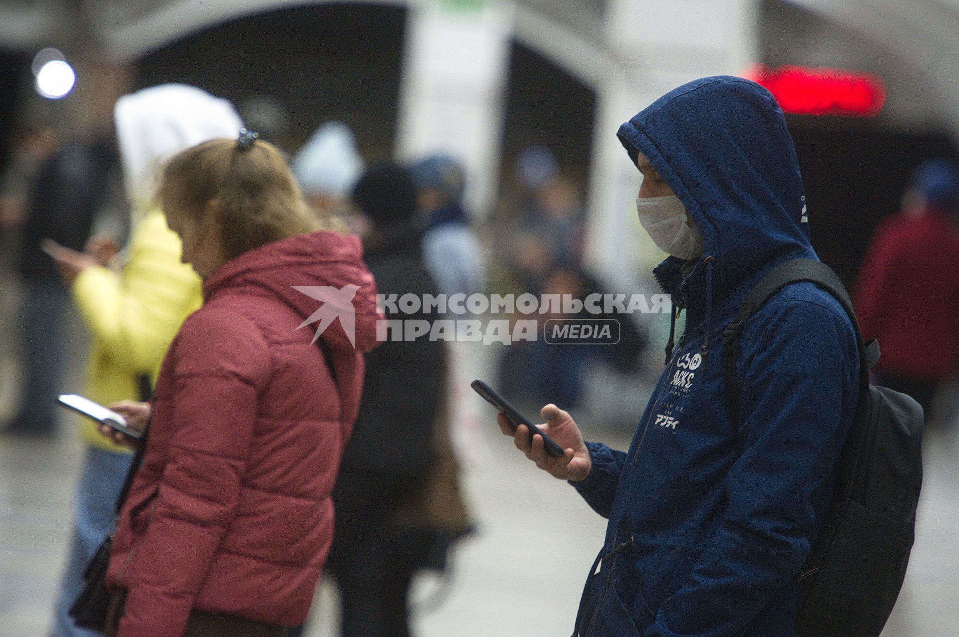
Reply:
[[503, 414], [498, 414], [496, 420], [503, 434], [511, 437], [516, 448], [523, 451], [526, 458], [536, 463], [536, 466], [560, 480], [585, 480], [593, 461], [573, 417], [551, 403], [540, 410], [540, 416], [546, 424], [538, 425], [539, 428], [564, 449], [564, 454], [559, 458], [547, 454], [543, 437], [539, 434], [534, 435], [530, 441], [529, 429], [525, 424], [513, 429], [513, 425]]

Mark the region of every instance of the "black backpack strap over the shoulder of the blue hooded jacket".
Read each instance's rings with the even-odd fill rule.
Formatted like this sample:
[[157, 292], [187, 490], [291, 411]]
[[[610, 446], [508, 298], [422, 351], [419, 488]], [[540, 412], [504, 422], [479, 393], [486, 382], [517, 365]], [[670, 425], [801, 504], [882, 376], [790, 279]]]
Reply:
[[879, 359], [879, 344], [875, 338], [863, 342], [859, 323], [855, 320], [853, 302], [846, 286], [842, 284], [829, 265], [811, 259], [793, 259], [783, 262], [769, 271], [750, 291], [749, 296], [739, 307], [736, 318], [722, 332], [723, 372], [726, 384], [726, 398], [734, 416], [739, 413], [739, 390], [736, 383], [737, 356], [739, 355], [739, 336], [742, 324], [755, 314], [776, 292], [788, 284], [808, 281], [820, 285], [828, 291], [846, 310], [855, 330], [855, 341], [859, 348], [862, 365], [859, 370], [863, 388], [869, 386], [869, 370]]

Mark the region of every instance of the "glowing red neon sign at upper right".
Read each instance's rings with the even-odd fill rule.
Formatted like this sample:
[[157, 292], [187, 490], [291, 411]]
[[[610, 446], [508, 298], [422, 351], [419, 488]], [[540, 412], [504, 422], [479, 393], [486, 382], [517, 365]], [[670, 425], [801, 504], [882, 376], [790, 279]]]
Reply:
[[785, 113], [876, 117], [886, 102], [885, 85], [871, 73], [760, 66], [747, 77], [768, 89]]

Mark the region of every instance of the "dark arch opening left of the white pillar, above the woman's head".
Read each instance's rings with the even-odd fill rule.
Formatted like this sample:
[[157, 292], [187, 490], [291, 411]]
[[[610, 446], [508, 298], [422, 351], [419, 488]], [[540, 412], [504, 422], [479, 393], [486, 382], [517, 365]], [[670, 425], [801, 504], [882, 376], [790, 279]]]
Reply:
[[236, 104], [267, 95], [289, 112], [281, 141], [291, 148], [337, 119], [375, 161], [392, 154], [405, 25], [405, 8], [372, 3], [269, 11], [148, 54], [139, 61], [138, 84], [186, 82]]

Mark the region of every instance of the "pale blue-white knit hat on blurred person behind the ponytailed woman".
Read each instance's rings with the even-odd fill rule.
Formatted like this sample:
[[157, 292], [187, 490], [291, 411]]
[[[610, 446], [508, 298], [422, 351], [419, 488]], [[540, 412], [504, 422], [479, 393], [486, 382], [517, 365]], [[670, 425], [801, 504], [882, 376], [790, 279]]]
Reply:
[[292, 171], [304, 193], [344, 197], [366, 168], [349, 126], [327, 122], [316, 128], [292, 161]]

